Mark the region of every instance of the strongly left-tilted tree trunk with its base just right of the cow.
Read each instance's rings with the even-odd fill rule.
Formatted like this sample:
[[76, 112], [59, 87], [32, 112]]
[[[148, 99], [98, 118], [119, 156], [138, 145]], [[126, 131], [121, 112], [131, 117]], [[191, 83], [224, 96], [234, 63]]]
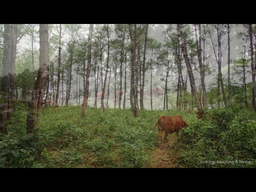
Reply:
[[191, 67], [191, 64], [190, 64], [190, 60], [188, 58], [188, 52], [187, 52], [186, 42], [185, 42], [185, 38], [184, 38], [184, 32], [182, 32], [182, 29], [180, 27], [181, 27], [180, 24], [178, 24], [178, 31], [180, 32], [180, 38], [181, 38], [181, 42], [182, 42], [182, 52], [183, 52], [184, 59], [185, 59], [185, 62], [186, 62], [186, 66], [187, 66], [187, 70], [188, 70], [188, 78], [190, 80], [191, 91], [194, 95], [194, 98], [196, 99], [196, 108], [197, 108], [197, 110], [202, 111], [202, 104], [201, 104], [201, 101], [199, 99], [198, 92], [196, 90], [194, 75], [193, 75], [193, 72], [192, 72], [192, 67]]

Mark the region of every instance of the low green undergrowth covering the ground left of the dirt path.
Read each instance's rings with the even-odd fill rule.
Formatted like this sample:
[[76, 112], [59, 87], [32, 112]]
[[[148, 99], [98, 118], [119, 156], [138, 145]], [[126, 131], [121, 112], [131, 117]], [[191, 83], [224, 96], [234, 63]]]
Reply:
[[[88, 108], [81, 117], [80, 106], [41, 110], [39, 128], [26, 134], [26, 108], [19, 108], [1, 135], [2, 167], [46, 168], [142, 168], [157, 146], [157, 128], [163, 115], [176, 111], [139, 111]], [[195, 115], [194, 115], [195, 116]]]

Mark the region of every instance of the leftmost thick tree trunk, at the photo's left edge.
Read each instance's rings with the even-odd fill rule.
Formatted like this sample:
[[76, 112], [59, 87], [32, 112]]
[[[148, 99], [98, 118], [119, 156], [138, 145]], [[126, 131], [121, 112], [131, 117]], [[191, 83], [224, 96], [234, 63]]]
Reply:
[[2, 62], [2, 112], [0, 113], [0, 131], [6, 134], [8, 102], [10, 100], [10, 74], [12, 64], [12, 24], [4, 24], [4, 45]]

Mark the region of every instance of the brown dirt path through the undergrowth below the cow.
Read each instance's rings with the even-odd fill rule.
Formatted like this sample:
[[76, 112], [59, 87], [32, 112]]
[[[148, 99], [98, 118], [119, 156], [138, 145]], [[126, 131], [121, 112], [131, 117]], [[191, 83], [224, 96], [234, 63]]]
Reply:
[[[174, 167], [174, 152], [172, 150], [172, 144], [177, 140], [175, 134], [168, 136], [170, 147], [167, 147], [165, 142], [162, 143], [163, 148], [156, 147], [152, 153], [152, 163], [148, 168], [173, 168]], [[163, 140], [162, 140], [163, 141]]]

